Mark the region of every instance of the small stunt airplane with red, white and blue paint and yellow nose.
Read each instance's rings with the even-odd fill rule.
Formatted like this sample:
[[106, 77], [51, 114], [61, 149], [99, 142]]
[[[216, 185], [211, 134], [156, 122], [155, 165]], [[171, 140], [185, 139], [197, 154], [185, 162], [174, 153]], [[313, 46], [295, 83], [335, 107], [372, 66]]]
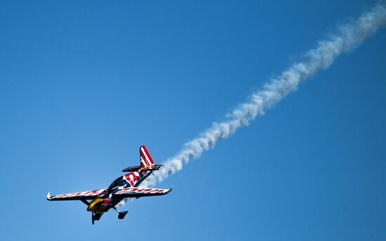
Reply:
[[[124, 198], [142, 198], [147, 196], [166, 195], [170, 189], [141, 188], [142, 181], [149, 177], [155, 170], [160, 170], [164, 165], [156, 165], [145, 145], [140, 146], [140, 166], [127, 167], [122, 172], [130, 172], [115, 179], [108, 188], [67, 193], [51, 196], [48, 192], [48, 201], [81, 200], [87, 205], [87, 211], [91, 212], [91, 222], [100, 220], [100, 217], [109, 209], [118, 212], [118, 219], [124, 219], [128, 211], [121, 212], [115, 207]], [[88, 201], [91, 200], [91, 201]]]

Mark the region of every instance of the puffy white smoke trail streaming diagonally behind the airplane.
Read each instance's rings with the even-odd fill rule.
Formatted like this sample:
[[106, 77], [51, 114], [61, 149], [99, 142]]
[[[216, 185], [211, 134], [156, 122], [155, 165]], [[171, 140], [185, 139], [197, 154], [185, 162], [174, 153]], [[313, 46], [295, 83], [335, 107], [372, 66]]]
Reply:
[[359, 46], [367, 36], [385, 24], [386, 4], [382, 3], [376, 4], [371, 11], [362, 14], [353, 23], [342, 25], [336, 34], [329, 39], [319, 41], [317, 48], [306, 53], [305, 60], [292, 64], [277, 78], [271, 79], [262, 90], [249, 97], [248, 102], [240, 104], [232, 113], [229, 113], [226, 121], [213, 123], [211, 128], [199, 137], [187, 142], [177, 155], [164, 163], [163, 169], [154, 172], [140, 186], [154, 186], [156, 182], [163, 181], [171, 174], [180, 171], [182, 165], [198, 158], [203, 151], [213, 148], [218, 141], [229, 137], [253, 119], [264, 115], [265, 109], [269, 109], [296, 90], [299, 83], [314, 76], [317, 71], [328, 68], [336, 57]]

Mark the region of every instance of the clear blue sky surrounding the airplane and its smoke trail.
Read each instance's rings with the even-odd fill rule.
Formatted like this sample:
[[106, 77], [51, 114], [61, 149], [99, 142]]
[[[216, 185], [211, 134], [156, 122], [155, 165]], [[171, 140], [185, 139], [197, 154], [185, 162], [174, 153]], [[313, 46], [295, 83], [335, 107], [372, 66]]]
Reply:
[[373, 1], [1, 1], [1, 240], [386, 240], [386, 29], [91, 225], [158, 163]]

